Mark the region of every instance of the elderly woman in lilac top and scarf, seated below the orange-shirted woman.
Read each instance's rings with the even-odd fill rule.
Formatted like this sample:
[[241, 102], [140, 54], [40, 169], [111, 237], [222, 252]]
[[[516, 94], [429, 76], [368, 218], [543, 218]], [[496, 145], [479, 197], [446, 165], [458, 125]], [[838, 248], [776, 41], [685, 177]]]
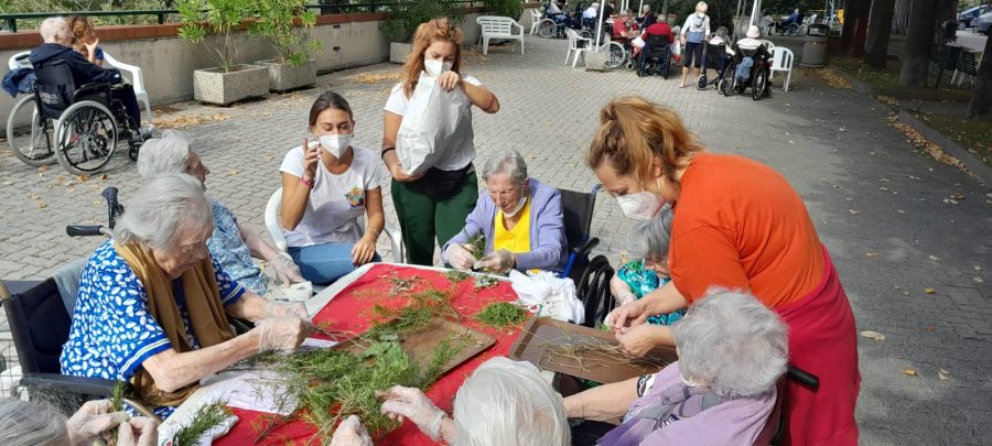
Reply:
[[678, 361], [565, 399], [569, 417], [619, 424], [593, 442], [595, 423], [584, 422], [575, 444], [752, 445], [768, 435], [788, 359], [778, 316], [751, 294], [713, 289], [672, 329]]

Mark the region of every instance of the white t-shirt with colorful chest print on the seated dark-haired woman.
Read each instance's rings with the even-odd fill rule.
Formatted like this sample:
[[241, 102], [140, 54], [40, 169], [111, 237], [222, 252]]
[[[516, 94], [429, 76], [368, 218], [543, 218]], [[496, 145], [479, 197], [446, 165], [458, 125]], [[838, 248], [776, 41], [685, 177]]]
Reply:
[[[384, 176], [379, 160], [370, 151], [354, 145], [352, 150], [352, 165], [341, 175], [327, 171], [321, 157], [303, 219], [295, 229], [284, 231], [288, 246], [354, 243], [362, 238], [364, 228], [358, 218], [365, 215], [366, 191], [381, 187]], [[303, 177], [303, 148], [290, 150], [279, 170]]]

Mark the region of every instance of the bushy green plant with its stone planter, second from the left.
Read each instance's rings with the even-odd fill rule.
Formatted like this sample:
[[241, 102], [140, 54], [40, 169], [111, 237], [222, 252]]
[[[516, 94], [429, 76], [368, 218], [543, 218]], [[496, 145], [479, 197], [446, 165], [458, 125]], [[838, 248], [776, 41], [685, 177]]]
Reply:
[[322, 45], [311, 39], [316, 14], [308, 11], [305, 4], [305, 0], [258, 0], [255, 4], [256, 20], [248, 31], [266, 37], [279, 53], [277, 58], [256, 62], [269, 68], [269, 89], [272, 91], [287, 91], [316, 83], [316, 66], [310, 54]]

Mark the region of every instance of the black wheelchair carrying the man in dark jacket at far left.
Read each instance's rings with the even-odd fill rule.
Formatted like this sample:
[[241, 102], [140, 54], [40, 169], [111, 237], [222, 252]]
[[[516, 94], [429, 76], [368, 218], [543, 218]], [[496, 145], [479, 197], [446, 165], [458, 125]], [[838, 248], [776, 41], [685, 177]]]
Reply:
[[[35, 111], [26, 133], [32, 151], [40, 149], [43, 139], [46, 151], [40, 151], [39, 156], [54, 154], [58, 164], [76, 175], [100, 172], [110, 162], [120, 140], [127, 140], [128, 156], [138, 161], [144, 138], [123, 102], [112, 97], [115, 86], [101, 83], [76, 86], [63, 61], [34, 68], [37, 77], [34, 95], [19, 102], [34, 101]], [[35, 161], [44, 160], [35, 157]]]

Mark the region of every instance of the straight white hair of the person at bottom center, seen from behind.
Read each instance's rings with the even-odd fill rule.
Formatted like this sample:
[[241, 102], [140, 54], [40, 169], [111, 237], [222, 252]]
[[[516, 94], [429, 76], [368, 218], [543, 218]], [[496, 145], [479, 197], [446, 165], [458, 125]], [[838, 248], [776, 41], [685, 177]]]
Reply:
[[455, 446], [568, 446], [561, 395], [537, 371], [497, 357], [472, 373], [455, 395]]

